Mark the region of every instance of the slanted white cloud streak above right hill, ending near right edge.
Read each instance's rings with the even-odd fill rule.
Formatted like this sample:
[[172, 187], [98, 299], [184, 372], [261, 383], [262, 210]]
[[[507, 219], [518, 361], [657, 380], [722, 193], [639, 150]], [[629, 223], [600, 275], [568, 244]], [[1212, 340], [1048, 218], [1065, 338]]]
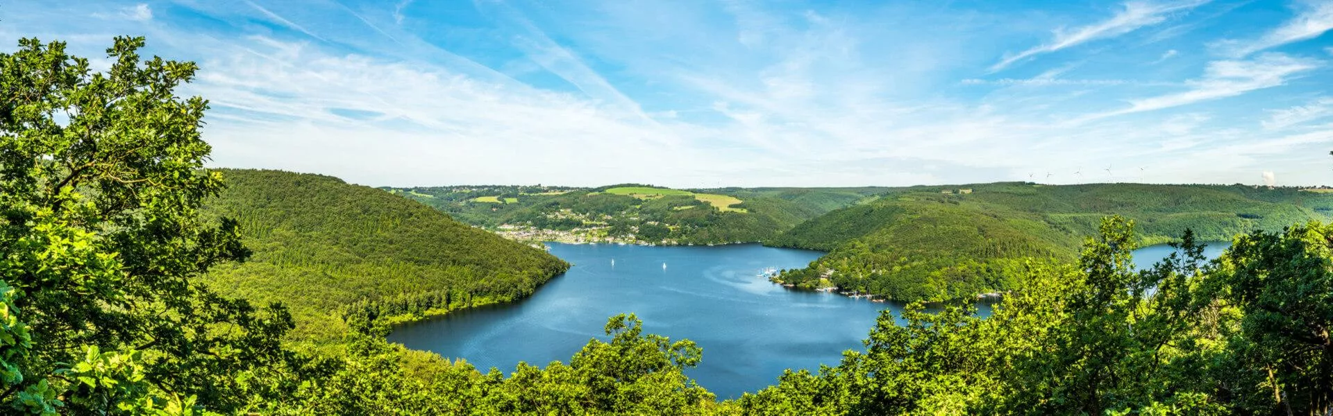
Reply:
[[1238, 96], [1254, 89], [1286, 84], [1297, 73], [1318, 68], [1321, 61], [1265, 53], [1250, 60], [1221, 60], [1208, 63], [1204, 76], [1186, 81], [1189, 91], [1130, 100], [1130, 107], [1090, 116], [1100, 119], [1136, 112], [1156, 111], [1198, 101]]

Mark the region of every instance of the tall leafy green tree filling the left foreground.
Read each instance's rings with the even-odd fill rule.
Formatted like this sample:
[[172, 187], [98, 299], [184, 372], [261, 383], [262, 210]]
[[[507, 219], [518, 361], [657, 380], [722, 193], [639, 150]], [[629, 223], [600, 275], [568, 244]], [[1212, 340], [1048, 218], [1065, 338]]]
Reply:
[[104, 73], [59, 41], [0, 53], [0, 281], [12, 320], [0, 400], [13, 408], [188, 413], [277, 395], [243, 375], [284, 365], [285, 309], [195, 281], [249, 255], [235, 221], [199, 215], [223, 181], [203, 169], [207, 101], [176, 96], [197, 67], [140, 60], [143, 45], [117, 37]]

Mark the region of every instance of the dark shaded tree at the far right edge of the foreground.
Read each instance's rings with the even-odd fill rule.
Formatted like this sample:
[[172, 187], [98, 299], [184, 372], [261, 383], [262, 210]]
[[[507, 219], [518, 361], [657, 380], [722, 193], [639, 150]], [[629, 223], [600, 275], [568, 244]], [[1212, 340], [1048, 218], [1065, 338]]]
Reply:
[[1333, 224], [1242, 236], [1224, 260], [1214, 287], [1244, 312], [1229, 357], [1264, 387], [1248, 399], [1286, 413], [1333, 412]]

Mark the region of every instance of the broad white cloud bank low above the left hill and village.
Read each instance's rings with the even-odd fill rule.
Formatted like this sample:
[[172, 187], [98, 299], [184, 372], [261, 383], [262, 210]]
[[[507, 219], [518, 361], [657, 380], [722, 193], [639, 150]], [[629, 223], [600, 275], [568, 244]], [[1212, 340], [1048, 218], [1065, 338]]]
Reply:
[[[660, 164], [722, 163], [678, 144], [700, 137], [688, 125], [647, 123], [615, 103], [301, 43], [255, 39], [245, 49], [219, 52], [228, 49], [203, 63], [188, 91], [213, 108], [205, 133], [217, 165], [328, 172], [372, 184], [527, 183], [532, 169], [496, 176], [495, 167], [541, 167], [543, 181], [593, 184], [589, 175], [648, 181]], [[655, 163], [643, 163], [645, 155]], [[697, 177], [680, 180], [689, 179]]]

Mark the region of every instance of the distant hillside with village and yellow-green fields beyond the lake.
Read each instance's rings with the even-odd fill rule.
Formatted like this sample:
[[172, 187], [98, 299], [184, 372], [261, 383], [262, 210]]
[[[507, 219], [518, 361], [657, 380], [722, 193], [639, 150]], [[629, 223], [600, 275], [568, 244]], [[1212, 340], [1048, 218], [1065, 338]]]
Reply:
[[890, 188], [384, 188], [517, 240], [722, 244], [768, 240]]

